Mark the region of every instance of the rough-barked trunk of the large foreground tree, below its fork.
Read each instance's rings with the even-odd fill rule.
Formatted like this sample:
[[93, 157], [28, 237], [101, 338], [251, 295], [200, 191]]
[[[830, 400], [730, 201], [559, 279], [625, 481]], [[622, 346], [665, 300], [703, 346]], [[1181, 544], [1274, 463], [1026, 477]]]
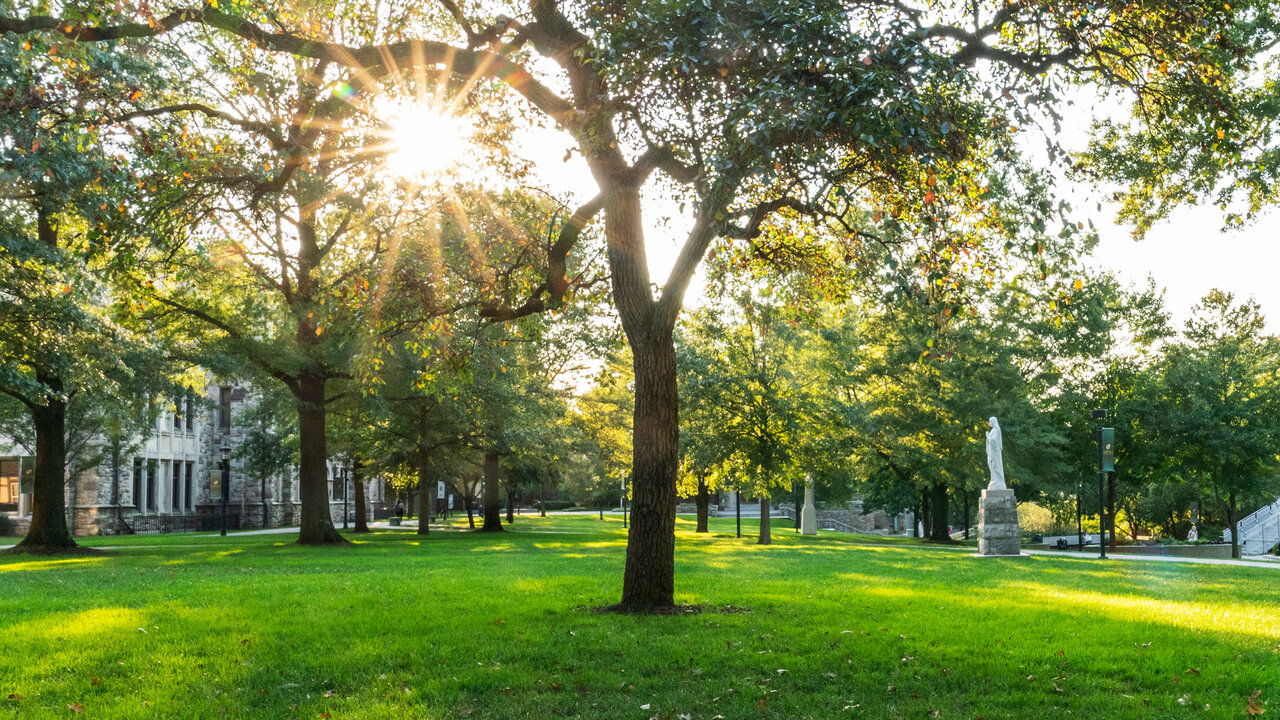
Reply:
[[669, 607], [676, 602], [676, 470], [680, 461], [676, 348], [669, 328], [641, 337], [628, 331], [627, 336], [634, 357], [636, 405], [631, 530], [620, 605], [623, 610]]

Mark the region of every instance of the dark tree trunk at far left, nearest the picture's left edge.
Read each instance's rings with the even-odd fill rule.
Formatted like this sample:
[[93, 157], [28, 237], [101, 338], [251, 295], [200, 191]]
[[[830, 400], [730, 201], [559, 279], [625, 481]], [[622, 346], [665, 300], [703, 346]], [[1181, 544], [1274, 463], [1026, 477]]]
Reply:
[[49, 388], [44, 405], [31, 409], [36, 429], [35, 487], [31, 497], [31, 528], [12, 552], [74, 552], [79, 548], [67, 527], [67, 401], [63, 379], [37, 373], [36, 380]]

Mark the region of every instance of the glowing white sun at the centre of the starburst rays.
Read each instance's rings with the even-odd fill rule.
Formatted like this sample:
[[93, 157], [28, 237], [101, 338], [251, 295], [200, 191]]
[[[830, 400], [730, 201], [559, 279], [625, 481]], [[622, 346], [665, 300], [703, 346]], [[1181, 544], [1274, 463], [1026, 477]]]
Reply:
[[440, 108], [419, 105], [390, 122], [387, 168], [401, 177], [439, 176], [466, 159], [472, 128]]

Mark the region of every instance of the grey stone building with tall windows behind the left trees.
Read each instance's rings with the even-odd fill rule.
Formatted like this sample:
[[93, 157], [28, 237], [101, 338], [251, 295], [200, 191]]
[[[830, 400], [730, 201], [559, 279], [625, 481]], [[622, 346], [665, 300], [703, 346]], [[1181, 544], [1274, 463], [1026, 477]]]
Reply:
[[[275, 528], [298, 520], [297, 470], [275, 477], [250, 477], [236, 448], [246, 429], [237, 423], [253, 402], [243, 386], [211, 380], [205, 397], [184, 397], [164, 404], [155, 427], [137, 438], [128, 454], [104, 454], [96, 468], [76, 473], [67, 482], [68, 523], [73, 534], [170, 533], [221, 528], [221, 459], [229, 457], [227, 527]], [[29, 471], [33, 457], [18, 443], [0, 438], [0, 512], [26, 532], [31, 512]], [[329, 507], [335, 525], [343, 514], [355, 520], [349, 469], [338, 459], [329, 462]], [[384, 483], [366, 483], [366, 512], [385, 505]]]

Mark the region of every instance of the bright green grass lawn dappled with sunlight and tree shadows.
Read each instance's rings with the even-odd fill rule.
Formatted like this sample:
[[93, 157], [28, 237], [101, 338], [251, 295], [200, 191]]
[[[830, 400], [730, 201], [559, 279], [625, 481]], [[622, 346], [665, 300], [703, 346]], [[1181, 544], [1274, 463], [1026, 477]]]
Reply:
[[0, 717], [1239, 717], [1256, 691], [1280, 712], [1280, 569], [774, 529], [681, 519], [677, 601], [721, 609], [684, 616], [591, 610], [618, 600], [620, 518], [0, 557]]

